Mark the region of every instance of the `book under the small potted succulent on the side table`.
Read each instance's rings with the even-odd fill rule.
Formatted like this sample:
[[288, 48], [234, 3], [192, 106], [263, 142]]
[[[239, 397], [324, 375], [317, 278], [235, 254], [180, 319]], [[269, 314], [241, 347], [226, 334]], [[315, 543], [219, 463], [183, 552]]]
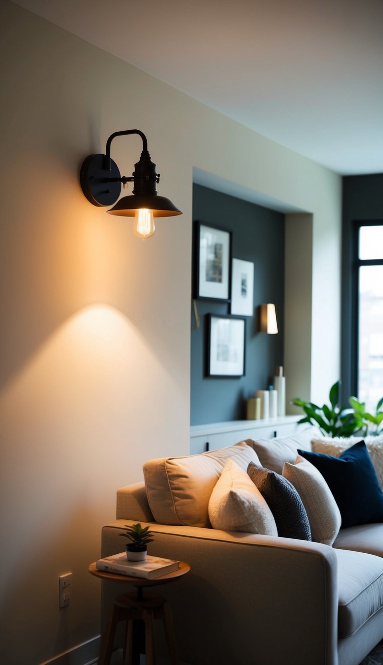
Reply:
[[114, 554], [111, 557], [98, 559], [96, 568], [106, 573], [117, 575], [128, 575], [129, 577], [144, 577], [154, 579], [178, 570], [180, 561], [174, 559], [162, 559], [161, 557], [146, 556], [146, 561], [128, 561], [126, 552]]

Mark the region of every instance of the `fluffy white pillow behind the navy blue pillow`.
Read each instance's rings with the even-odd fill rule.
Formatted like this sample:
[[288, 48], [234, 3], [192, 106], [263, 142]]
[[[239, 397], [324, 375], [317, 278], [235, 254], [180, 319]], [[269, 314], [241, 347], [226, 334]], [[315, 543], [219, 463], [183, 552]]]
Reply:
[[383, 436], [349, 436], [348, 438], [336, 436], [334, 438], [313, 439], [311, 444], [313, 452], [324, 455], [340, 457], [347, 448], [354, 446], [358, 441], [364, 441], [371, 462], [374, 465], [375, 473], [378, 476], [380, 489], [383, 490]]

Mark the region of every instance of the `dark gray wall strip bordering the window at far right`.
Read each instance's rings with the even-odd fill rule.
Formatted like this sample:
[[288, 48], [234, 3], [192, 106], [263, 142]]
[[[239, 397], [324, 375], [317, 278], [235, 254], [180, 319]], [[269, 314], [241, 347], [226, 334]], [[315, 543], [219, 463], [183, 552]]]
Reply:
[[354, 221], [383, 219], [383, 174], [343, 178], [342, 228], [342, 396], [355, 394], [352, 371], [356, 321], [352, 305], [352, 237]]

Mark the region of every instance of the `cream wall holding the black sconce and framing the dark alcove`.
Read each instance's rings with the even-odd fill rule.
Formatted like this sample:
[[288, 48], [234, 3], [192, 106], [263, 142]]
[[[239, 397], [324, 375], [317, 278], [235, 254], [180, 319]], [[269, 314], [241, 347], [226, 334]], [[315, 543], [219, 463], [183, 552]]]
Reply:
[[[188, 453], [193, 167], [313, 213], [312, 387], [338, 366], [340, 178], [7, 0], [0, 11], [0, 660], [36, 665], [98, 633], [87, 567], [116, 489], [146, 459]], [[130, 128], [184, 211], [145, 242], [78, 184], [84, 157]], [[140, 150], [113, 142], [125, 175]]]

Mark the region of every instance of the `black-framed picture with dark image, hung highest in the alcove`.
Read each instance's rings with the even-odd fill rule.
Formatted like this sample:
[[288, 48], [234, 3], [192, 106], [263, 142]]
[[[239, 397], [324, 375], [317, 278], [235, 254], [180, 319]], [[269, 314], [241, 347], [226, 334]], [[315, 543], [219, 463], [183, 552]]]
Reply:
[[195, 222], [195, 298], [230, 300], [231, 231]]

